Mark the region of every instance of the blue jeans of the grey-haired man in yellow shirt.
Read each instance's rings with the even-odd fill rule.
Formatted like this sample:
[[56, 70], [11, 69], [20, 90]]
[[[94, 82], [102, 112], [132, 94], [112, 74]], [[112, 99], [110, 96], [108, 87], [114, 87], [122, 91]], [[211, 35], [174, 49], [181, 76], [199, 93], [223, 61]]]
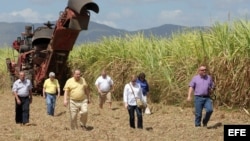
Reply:
[[47, 113], [48, 115], [54, 116], [55, 105], [56, 105], [56, 94], [46, 93]]

